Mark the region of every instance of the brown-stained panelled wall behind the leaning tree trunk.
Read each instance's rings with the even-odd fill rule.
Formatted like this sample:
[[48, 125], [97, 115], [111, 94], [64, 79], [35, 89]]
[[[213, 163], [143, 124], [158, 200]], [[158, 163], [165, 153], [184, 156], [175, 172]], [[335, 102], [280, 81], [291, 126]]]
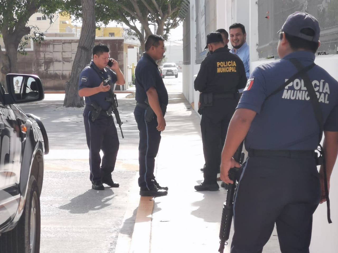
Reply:
[[[34, 44], [33, 51], [27, 52], [27, 55], [18, 54], [19, 72], [38, 75], [45, 90], [65, 90], [78, 41], [78, 38], [46, 38], [41, 44]], [[109, 47], [111, 57], [117, 59], [123, 73], [123, 38], [97, 37], [95, 44], [99, 43]]]

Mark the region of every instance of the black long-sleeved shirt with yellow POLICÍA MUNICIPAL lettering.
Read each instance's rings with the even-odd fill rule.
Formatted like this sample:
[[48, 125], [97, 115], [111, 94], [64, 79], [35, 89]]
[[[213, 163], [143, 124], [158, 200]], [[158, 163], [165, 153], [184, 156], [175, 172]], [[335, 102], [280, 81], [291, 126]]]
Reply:
[[202, 61], [194, 88], [205, 93], [236, 93], [246, 81], [242, 60], [227, 48], [218, 48]]

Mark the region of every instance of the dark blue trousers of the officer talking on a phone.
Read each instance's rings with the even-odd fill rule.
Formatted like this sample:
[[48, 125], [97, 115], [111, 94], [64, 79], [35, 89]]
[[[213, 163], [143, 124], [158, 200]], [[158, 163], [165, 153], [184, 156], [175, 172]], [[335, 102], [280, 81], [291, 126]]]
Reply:
[[[84, 111], [83, 121], [89, 148], [90, 180], [96, 182], [112, 178], [120, 146], [113, 116], [101, 116], [92, 122], [91, 112]], [[100, 150], [103, 152], [101, 167]]]

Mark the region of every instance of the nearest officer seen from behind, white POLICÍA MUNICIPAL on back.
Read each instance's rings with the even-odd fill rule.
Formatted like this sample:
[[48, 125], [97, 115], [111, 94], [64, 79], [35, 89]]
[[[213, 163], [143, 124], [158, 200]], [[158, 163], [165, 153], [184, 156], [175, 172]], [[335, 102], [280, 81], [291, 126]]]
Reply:
[[[319, 101], [324, 121], [328, 183], [338, 152], [338, 83], [313, 63], [319, 34], [313, 16], [291, 14], [279, 34], [281, 59], [252, 72], [230, 122], [221, 179], [232, 183], [228, 171], [239, 166], [232, 156], [244, 137], [249, 156], [234, 202], [232, 253], [262, 252], [274, 224], [281, 252], [309, 252], [312, 215], [325, 196], [324, 170], [321, 167], [318, 173], [314, 154], [319, 124], [305, 82], [309, 88], [314, 86], [313, 101]], [[290, 80], [299, 72], [296, 61], [304, 68], [314, 65], [307, 71], [308, 81], [299, 74]]]

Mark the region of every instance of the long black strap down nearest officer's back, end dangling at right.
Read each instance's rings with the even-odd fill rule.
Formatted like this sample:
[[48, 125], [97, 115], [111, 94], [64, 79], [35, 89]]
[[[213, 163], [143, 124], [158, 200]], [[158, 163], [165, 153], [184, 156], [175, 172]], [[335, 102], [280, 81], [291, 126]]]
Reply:
[[[296, 66], [296, 68], [299, 70], [299, 72], [301, 71], [301, 69], [303, 68], [303, 66], [301, 65], [301, 63], [296, 60], [296, 59], [289, 59], [289, 61], [291, 61], [293, 63], [293, 65]], [[315, 113], [315, 117], [316, 120], [318, 122], [319, 125], [319, 141], [318, 141], [318, 145], [321, 147], [320, 145], [320, 141], [321, 138], [323, 136], [323, 129], [324, 129], [324, 118], [323, 118], [323, 114], [321, 112], [320, 109], [320, 105], [319, 105], [319, 101], [315, 92], [315, 89], [313, 88], [312, 82], [308, 76], [308, 74], [306, 72], [301, 73], [301, 77], [304, 80], [304, 85], [308, 91], [309, 97], [310, 97], [310, 102], [313, 108], [313, 111]], [[321, 147], [322, 149], [322, 147]], [[326, 163], [325, 163], [325, 154], [324, 154], [324, 150], [322, 149], [322, 156], [323, 156], [323, 173], [324, 173], [324, 190], [325, 190], [325, 198], [326, 198], [326, 204], [327, 204], [327, 215], [328, 215], [328, 222], [332, 223], [331, 218], [330, 218], [330, 199], [329, 199], [329, 190], [328, 190], [328, 178], [327, 178], [327, 174], [326, 174]]]

